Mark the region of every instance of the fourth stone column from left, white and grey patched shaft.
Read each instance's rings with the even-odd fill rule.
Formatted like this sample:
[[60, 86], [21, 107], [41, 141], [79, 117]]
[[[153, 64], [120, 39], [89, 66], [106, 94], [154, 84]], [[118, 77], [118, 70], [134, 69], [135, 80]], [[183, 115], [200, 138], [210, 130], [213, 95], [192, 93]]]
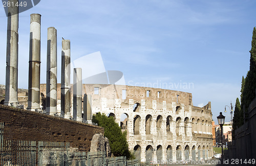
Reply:
[[70, 118], [70, 40], [62, 40], [61, 51], [61, 115]]

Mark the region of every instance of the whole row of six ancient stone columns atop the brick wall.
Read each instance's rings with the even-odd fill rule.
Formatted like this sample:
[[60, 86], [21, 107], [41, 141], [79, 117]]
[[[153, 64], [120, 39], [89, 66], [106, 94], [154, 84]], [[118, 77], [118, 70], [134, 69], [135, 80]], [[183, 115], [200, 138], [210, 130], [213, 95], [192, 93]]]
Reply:
[[[13, 1], [14, 4], [18, 0]], [[40, 40], [41, 15], [30, 15], [29, 87], [28, 110], [40, 110]], [[62, 40], [61, 51], [61, 115], [71, 118], [70, 113], [70, 40]], [[6, 96], [5, 105], [18, 106], [18, 7], [8, 7], [7, 53], [6, 53]], [[57, 114], [57, 30], [48, 28], [47, 34], [47, 79], [46, 113]], [[91, 122], [91, 96], [84, 94], [82, 117], [82, 69], [74, 68], [73, 118]]]

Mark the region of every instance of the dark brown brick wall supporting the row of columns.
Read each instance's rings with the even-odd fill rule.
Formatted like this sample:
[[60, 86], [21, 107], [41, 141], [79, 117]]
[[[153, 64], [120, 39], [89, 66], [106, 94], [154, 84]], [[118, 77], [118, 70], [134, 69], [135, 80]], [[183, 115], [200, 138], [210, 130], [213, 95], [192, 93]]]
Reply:
[[4, 122], [4, 139], [70, 142], [70, 146], [90, 151], [95, 133], [104, 129], [38, 112], [0, 104], [0, 122]]

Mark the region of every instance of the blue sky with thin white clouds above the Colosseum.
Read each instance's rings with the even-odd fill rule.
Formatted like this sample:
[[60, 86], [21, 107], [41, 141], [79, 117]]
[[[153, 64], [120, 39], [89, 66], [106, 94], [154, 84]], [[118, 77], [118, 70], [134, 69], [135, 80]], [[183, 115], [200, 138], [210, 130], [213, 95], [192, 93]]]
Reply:
[[[216, 121], [224, 106], [240, 97], [241, 79], [249, 70], [255, 7], [253, 0], [41, 0], [19, 15], [18, 87], [28, 88], [30, 14], [39, 13], [41, 83], [46, 83], [47, 28], [55, 27], [59, 83], [63, 37], [71, 40], [72, 60], [100, 51], [105, 69], [121, 71], [127, 85], [167, 84], [191, 92], [195, 106], [211, 101]], [[3, 7], [0, 22], [0, 84], [5, 84]], [[189, 83], [193, 86], [179, 86]], [[229, 121], [230, 114], [224, 115]]]

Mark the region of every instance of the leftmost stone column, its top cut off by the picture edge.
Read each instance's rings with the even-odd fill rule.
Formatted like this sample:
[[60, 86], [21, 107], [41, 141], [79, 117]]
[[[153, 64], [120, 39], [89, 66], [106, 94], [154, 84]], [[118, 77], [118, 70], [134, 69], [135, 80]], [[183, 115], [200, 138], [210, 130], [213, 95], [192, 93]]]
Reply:
[[[13, 0], [16, 4], [18, 1]], [[5, 105], [18, 105], [18, 6], [8, 7]]]

